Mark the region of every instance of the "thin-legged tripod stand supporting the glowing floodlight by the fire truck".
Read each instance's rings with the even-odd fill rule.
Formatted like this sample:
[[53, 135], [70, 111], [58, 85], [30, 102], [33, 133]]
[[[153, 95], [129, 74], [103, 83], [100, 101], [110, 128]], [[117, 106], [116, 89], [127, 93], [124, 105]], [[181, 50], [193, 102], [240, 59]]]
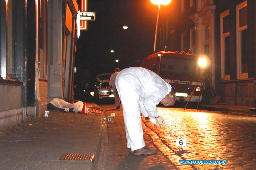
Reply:
[[[204, 60], [205, 60], [205, 59], [204, 59]], [[199, 63], [200, 63], [200, 59], [199, 59]], [[193, 96], [194, 91], [195, 91], [195, 89], [196, 89], [196, 87], [197, 87], [197, 85], [198, 85], [200, 79], [202, 79], [202, 82], [204, 81], [204, 80], [203, 80], [203, 75], [204, 75], [204, 76], [207, 78], [209, 84], [211, 85], [211, 88], [212, 88], [212, 90], [214, 91], [215, 95], [217, 96], [217, 98], [218, 98], [218, 100], [219, 100], [219, 102], [220, 102], [222, 108], [225, 110], [225, 112], [223, 112], [223, 113], [228, 113], [228, 111], [223, 107], [223, 104], [222, 104], [222, 102], [221, 102], [221, 100], [220, 100], [220, 98], [219, 98], [217, 92], [216, 92], [215, 89], [212, 87], [212, 84], [211, 84], [210, 79], [208, 78], [207, 74], [205, 74], [205, 72], [204, 72], [204, 67], [205, 67], [205, 65], [206, 65], [206, 60], [204, 61], [204, 64], [201, 65], [202, 68], [203, 68], [203, 69], [202, 69], [202, 72], [201, 72], [201, 75], [200, 75], [200, 77], [199, 77], [199, 79], [198, 79], [198, 81], [197, 81], [197, 83], [196, 83], [196, 86], [194, 87], [194, 89], [193, 89], [193, 91], [192, 91], [192, 93], [191, 93], [191, 95], [190, 95], [190, 97], [189, 97], [189, 99], [188, 99], [188, 102], [190, 101], [191, 97]], [[202, 90], [203, 90], [203, 89], [202, 89]], [[200, 91], [200, 93], [199, 93], [199, 100], [200, 100], [200, 95], [201, 95], [201, 91]], [[212, 94], [212, 95], [213, 95], [213, 94]], [[214, 96], [213, 96], [213, 97], [214, 97]], [[199, 106], [199, 100], [198, 100], [198, 103], [197, 103], [197, 110], [198, 110], [198, 106]], [[188, 106], [188, 102], [187, 102], [187, 104], [186, 104], [186, 106], [185, 106], [185, 108], [184, 108], [183, 111], [185, 111], [186, 107]]]

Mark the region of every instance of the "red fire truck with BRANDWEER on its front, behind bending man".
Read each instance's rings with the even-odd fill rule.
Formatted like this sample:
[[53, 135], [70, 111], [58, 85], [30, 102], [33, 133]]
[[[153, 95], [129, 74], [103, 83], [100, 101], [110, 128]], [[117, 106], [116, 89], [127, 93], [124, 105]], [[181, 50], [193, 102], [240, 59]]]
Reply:
[[[140, 66], [154, 71], [169, 83], [178, 102], [188, 102], [201, 74], [198, 57], [179, 51], [159, 51], [145, 57]], [[190, 102], [201, 102], [202, 84], [198, 82]]]

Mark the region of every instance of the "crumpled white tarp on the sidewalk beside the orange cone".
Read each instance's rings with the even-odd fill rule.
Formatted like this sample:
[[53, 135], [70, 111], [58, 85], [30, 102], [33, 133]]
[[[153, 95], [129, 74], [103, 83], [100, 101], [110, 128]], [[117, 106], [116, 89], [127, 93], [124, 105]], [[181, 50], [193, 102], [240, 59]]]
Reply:
[[82, 101], [78, 101], [76, 103], [68, 103], [64, 100], [58, 99], [58, 98], [53, 98], [50, 99], [50, 101], [47, 101], [47, 103], [52, 103], [55, 107], [65, 109], [65, 108], [74, 108], [73, 112], [81, 112], [84, 106], [84, 103]]

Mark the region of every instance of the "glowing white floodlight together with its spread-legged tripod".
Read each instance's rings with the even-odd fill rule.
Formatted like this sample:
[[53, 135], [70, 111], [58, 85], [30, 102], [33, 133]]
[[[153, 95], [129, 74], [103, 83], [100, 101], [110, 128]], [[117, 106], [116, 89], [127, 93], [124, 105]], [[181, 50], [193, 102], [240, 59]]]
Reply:
[[[204, 80], [203, 80], [203, 76], [205, 76], [205, 77], [207, 78], [207, 80], [209, 81], [209, 84], [211, 85], [210, 79], [208, 78], [207, 74], [205, 74], [205, 72], [204, 72], [204, 68], [205, 68], [205, 66], [207, 65], [207, 60], [205, 59], [205, 57], [199, 58], [198, 64], [199, 64], [199, 66], [201, 67], [202, 72], [201, 72], [201, 75], [200, 75], [200, 77], [199, 77], [199, 79], [198, 79], [198, 81], [197, 81], [197, 83], [196, 83], [196, 86], [194, 87], [193, 91], [191, 92], [191, 95], [190, 95], [190, 97], [189, 97], [189, 99], [188, 99], [188, 102], [190, 101], [191, 97], [193, 96], [195, 90], [197, 91], [197, 89], [198, 89], [198, 88], [197, 88], [197, 85], [198, 85], [200, 79], [202, 79], [202, 85], [203, 85], [203, 81], [204, 81]], [[217, 92], [216, 92], [215, 89], [212, 87], [212, 85], [211, 85], [211, 88], [212, 88], [212, 90], [215, 92], [215, 95], [216, 95], [216, 97], [218, 98], [220, 104], [223, 106], [223, 104], [222, 104], [222, 102], [221, 102], [221, 100], [220, 100], [220, 98], [219, 98]], [[203, 89], [202, 89], [202, 90], [203, 90]], [[200, 93], [199, 93], [199, 99], [198, 99], [198, 103], [197, 103], [197, 110], [198, 110], [199, 101], [200, 101], [200, 95], [201, 95], [202, 90], [201, 90]], [[213, 94], [212, 94], [212, 95], [213, 95]], [[214, 95], [213, 95], [213, 97], [214, 97]], [[187, 102], [187, 104], [186, 104], [186, 106], [185, 106], [185, 108], [184, 108], [183, 111], [185, 111], [186, 107], [188, 106], [188, 102]], [[224, 113], [227, 113], [227, 110], [226, 110], [224, 107], [222, 107], [222, 108], [225, 110]]]

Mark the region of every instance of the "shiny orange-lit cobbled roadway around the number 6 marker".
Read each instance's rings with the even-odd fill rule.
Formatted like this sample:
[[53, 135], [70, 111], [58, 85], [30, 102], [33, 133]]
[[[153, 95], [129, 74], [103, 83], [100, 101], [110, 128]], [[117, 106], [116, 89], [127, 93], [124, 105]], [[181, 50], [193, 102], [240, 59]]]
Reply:
[[[163, 144], [178, 155], [181, 147], [176, 139], [186, 139], [183, 150], [188, 153], [170, 158], [180, 168], [179, 160], [222, 160], [223, 165], [191, 165], [193, 169], [255, 169], [256, 118], [212, 111], [180, 108], [157, 108], [165, 118], [164, 127], [157, 129], [145, 122]], [[165, 152], [163, 152], [165, 154]], [[182, 168], [180, 168], [182, 169]]]

